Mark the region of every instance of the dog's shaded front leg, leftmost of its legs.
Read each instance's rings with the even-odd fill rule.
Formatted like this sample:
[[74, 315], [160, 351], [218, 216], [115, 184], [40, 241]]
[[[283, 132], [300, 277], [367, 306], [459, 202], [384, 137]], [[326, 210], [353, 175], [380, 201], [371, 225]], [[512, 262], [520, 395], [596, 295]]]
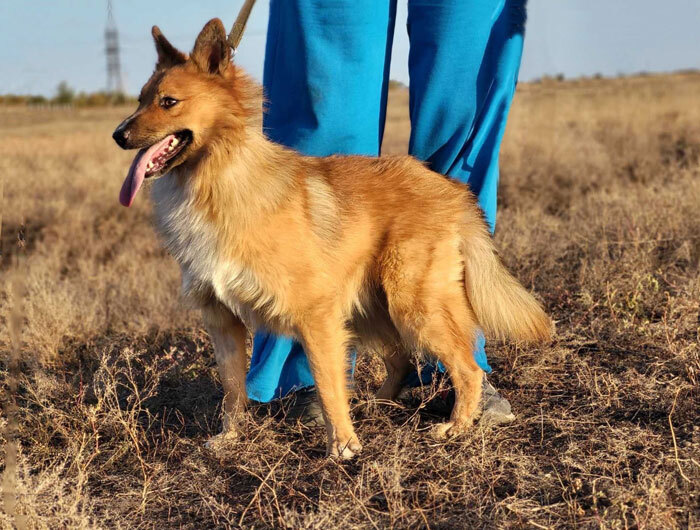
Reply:
[[207, 442], [207, 447], [215, 449], [226, 438], [236, 436], [248, 400], [245, 390], [247, 331], [243, 322], [220, 303], [203, 307], [202, 317], [214, 344], [224, 387], [223, 430]]

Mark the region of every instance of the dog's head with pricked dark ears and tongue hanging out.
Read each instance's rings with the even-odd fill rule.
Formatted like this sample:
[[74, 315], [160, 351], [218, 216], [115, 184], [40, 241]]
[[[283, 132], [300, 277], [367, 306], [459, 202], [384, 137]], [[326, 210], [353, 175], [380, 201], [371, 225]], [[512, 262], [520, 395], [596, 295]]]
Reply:
[[226, 31], [218, 18], [202, 29], [192, 52], [177, 50], [153, 26], [158, 60], [141, 89], [139, 106], [114, 131], [123, 149], [139, 149], [119, 201], [131, 206], [145, 178], [160, 177], [201, 157], [224, 132], [240, 131], [251, 113], [250, 83], [231, 64]]

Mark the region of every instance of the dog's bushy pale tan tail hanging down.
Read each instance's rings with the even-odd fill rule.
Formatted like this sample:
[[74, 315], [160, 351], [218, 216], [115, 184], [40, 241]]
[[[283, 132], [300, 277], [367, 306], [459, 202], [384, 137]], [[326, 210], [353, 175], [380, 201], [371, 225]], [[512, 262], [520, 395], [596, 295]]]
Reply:
[[551, 319], [503, 266], [483, 219], [465, 225], [462, 253], [467, 298], [487, 335], [527, 342], [551, 338]]

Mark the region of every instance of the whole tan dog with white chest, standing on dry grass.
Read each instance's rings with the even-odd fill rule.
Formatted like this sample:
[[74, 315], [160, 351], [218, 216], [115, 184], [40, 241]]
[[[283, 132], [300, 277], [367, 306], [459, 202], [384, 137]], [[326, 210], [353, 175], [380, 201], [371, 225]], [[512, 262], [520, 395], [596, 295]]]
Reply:
[[467, 430], [481, 397], [478, 330], [530, 342], [552, 333], [498, 258], [474, 195], [409, 156], [311, 157], [275, 144], [260, 126], [261, 89], [232, 63], [219, 19], [189, 55], [152, 34], [155, 71], [113, 134], [140, 149], [120, 202], [154, 180], [157, 230], [202, 311], [225, 392], [213, 441], [239, 430], [247, 330], [261, 327], [303, 344], [328, 455], [362, 449], [346, 388], [356, 344], [382, 352], [381, 399], [396, 398], [414, 352], [442, 361], [456, 402], [436, 434]]

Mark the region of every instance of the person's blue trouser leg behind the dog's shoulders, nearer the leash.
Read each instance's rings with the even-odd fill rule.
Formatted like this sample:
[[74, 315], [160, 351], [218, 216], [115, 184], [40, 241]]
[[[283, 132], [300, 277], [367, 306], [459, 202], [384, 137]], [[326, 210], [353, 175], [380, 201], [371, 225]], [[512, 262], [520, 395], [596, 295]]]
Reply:
[[[307, 155], [377, 155], [384, 132], [396, 0], [272, 0], [263, 126]], [[267, 402], [312, 386], [302, 347], [259, 332], [246, 380]]]

